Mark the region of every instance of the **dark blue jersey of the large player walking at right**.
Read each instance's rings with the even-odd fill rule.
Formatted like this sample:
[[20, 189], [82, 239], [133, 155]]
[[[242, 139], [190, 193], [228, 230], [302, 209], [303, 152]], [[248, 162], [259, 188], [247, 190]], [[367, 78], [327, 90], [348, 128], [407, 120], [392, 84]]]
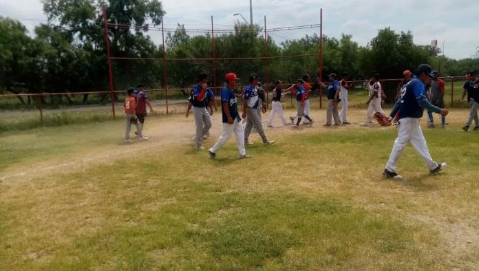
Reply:
[[424, 108], [419, 105], [418, 100], [420, 98], [426, 98], [426, 89], [424, 83], [417, 76], [413, 76], [401, 90], [401, 96], [398, 101], [401, 103], [399, 119], [422, 118]]

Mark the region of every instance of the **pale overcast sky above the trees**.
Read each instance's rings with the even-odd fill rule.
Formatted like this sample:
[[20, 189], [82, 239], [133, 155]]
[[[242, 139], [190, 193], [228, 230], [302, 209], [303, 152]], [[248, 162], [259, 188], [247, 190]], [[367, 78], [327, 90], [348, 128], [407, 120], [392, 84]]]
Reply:
[[[249, 0], [163, 0], [166, 28], [184, 23], [187, 28], [209, 29], [213, 15], [215, 28], [231, 29], [240, 12], [249, 21]], [[40, 0], [0, 0], [0, 15], [23, 19], [30, 31], [45, 20]], [[352, 34], [354, 41], [366, 45], [377, 30], [390, 26], [396, 31], [412, 30], [414, 42], [428, 45], [438, 40], [445, 54], [466, 58], [476, 54], [479, 46], [479, 0], [253, 0], [253, 23], [268, 28], [319, 23], [319, 8], [323, 8], [323, 33], [328, 36]], [[33, 19], [32, 21], [24, 19]], [[319, 29], [270, 33], [280, 43], [319, 32]], [[158, 36], [153, 36], [158, 40]]]

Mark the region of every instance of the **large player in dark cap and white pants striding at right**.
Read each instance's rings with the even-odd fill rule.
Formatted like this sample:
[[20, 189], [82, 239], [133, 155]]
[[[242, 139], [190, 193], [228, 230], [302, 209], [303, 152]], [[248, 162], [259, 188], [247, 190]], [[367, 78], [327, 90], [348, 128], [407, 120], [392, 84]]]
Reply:
[[391, 155], [383, 171], [383, 175], [388, 179], [403, 180], [397, 173], [397, 163], [403, 149], [411, 143], [418, 154], [427, 164], [430, 173], [437, 174], [443, 171], [447, 164], [438, 164], [432, 160], [427, 149], [427, 142], [421, 130], [421, 118], [424, 109], [440, 113], [441, 116], [447, 116], [449, 111], [435, 107], [426, 99], [425, 84], [429, 83], [434, 75], [432, 67], [429, 65], [420, 65], [412, 80], [403, 87], [400, 100], [396, 103], [394, 110], [399, 110], [398, 137], [392, 147]]

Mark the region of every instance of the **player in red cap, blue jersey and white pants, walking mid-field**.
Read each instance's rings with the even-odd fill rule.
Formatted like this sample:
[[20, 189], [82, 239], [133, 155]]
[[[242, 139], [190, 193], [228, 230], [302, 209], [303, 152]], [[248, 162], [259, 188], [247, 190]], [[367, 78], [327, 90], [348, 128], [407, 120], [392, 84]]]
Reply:
[[221, 91], [223, 133], [218, 138], [215, 146], [209, 149], [209, 156], [211, 159], [215, 159], [217, 151], [228, 142], [231, 138], [231, 133], [234, 132], [238, 151], [240, 152], [238, 158], [251, 158], [250, 155], [246, 155], [246, 149], [244, 149], [244, 129], [237, 108], [237, 98], [235, 92], [233, 92], [233, 88], [237, 86], [237, 80], [240, 79], [233, 72], [226, 74], [225, 78], [226, 86]]

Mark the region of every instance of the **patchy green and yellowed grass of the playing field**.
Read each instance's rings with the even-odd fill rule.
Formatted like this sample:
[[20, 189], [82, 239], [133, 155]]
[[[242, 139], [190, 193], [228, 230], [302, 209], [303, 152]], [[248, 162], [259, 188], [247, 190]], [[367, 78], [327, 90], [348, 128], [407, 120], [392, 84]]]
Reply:
[[[149, 120], [165, 133], [173, 122]], [[248, 148], [250, 160], [236, 159], [231, 140], [214, 161], [182, 141], [120, 145], [113, 138], [122, 129], [118, 120], [0, 137], [0, 167], [25, 171], [42, 160], [142, 150], [0, 182], [0, 270], [473, 270], [478, 264], [473, 150], [479, 141], [455, 122], [425, 131], [432, 155], [446, 160], [448, 171], [427, 175], [409, 147], [399, 165], [403, 182], [380, 174], [394, 129], [282, 135], [279, 129], [269, 132], [275, 146]], [[456, 250], [461, 236], [473, 243]]]

